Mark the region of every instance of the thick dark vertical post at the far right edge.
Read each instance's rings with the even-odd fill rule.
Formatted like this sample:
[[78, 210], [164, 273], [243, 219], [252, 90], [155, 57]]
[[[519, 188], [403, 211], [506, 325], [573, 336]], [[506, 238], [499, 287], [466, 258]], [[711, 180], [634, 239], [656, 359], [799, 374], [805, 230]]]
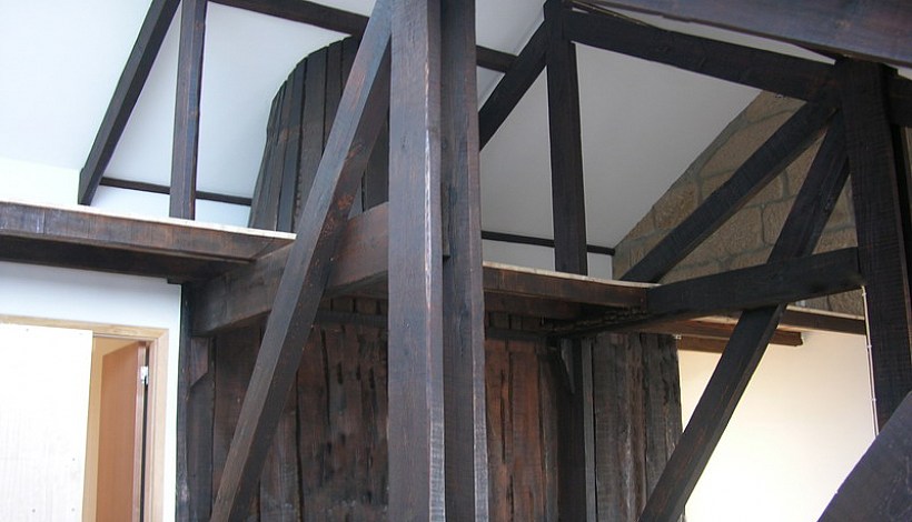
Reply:
[[[883, 426], [912, 389], [912, 305], [898, 157], [888, 119], [886, 69], [858, 60], [837, 64], [855, 203], [859, 263], [874, 374], [878, 424]], [[904, 170], [904, 165], [902, 165]]]

